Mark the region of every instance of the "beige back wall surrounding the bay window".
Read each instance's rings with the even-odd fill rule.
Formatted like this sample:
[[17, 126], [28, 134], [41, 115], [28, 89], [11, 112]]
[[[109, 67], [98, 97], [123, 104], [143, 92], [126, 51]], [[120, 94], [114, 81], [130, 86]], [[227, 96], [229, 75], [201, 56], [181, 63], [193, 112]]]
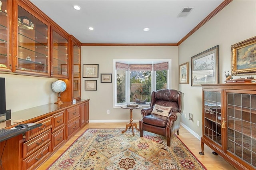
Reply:
[[[85, 91], [82, 78], [82, 98], [90, 98], [90, 122], [102, 121], [116, 122], [130, 119], [130, 110], [113, 108], [113, 84], [100, 83], [100, 73], [112, 73], [113, 59], [172, 59], [172, 79], [170, 83], [173, 89], [178, 89], [178, 47], [177, 46], [83, 46], [82, 64], [99, 64], [99, 78], [97, 91]], [[88, 78], [86, 78], [88, 79]], [[107, 114], [110, 110], [110, 114]], [[134, 110], [134, 120], [141, 119], [138, 110]]]

